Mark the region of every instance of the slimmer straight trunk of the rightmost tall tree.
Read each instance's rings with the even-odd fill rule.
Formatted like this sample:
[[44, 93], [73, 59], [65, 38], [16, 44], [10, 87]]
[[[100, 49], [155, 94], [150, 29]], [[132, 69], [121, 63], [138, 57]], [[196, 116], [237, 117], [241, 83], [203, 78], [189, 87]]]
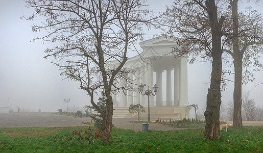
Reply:
[[243, 53], [239, 49], [238, 43], [238, 14], [237, 14], [237, 3], [238, 0], [230, 0], [230, 5], [232, 8], [232, 18], [233, 18], [233, 63], [235, 69], [235, 83], [234, 83], [234, 112], [233, 112], [233, 126], [234, 127], [241, 127], [242, 125], [242, 59]]

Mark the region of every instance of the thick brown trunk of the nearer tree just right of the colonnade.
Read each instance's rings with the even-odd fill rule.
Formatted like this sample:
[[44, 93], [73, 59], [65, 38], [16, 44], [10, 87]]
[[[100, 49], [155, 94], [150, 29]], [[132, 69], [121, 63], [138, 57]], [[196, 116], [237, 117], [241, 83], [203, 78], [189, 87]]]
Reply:
[[206, 1], [212, 34], [212, 73], [211, 83], [206, 98], [205, 132], [204, 139], [220, 138], [220, 105], [221, 105], [221, 73], [222, 73], [222, 49], [221, 28], [225, 17], [218, 21], [217, 6], [213, 0]]

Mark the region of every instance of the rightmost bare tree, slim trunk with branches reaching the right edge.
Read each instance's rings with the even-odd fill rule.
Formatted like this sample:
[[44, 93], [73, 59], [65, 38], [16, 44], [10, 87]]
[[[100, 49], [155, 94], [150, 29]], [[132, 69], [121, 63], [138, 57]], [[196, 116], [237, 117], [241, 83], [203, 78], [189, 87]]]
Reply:
[[[229, 0], [231, 13], [224, 23], [224, 36], [226, 48], [233, 59], [234, 64], [234, 111], [233, 126], [242, 126], [242, 83], [252, 81], [253, 74], [248, 67], [254, 60], [255, 70], [262, 67], [259, 62], [260, 54], [263, 53], [263, 22], [261, 14], [248, 10], [238, 12], [238, 0]], [[228, 62], [228, 61], [227, 61]], [[243, 66], [245, 71], [243, 72]]]

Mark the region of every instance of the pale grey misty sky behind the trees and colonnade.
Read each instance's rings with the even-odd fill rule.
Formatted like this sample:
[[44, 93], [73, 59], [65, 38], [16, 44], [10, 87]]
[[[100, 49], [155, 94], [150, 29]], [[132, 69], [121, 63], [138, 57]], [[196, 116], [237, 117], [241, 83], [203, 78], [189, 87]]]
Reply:
[[[162, 2], [162, 4], [160, 4]], [[171, 1], [149, 1], [151, 9], [164, 11]], [[245, 4], [239, 4], [242, 7]], [[253, 8], [262, 8], [255, 6]], [[51, 47], [51, 43], [30, 40], [43, 33], [33, 33], [33, 21], [20, 19], [22, 15], [29, 16], [32, 9], [25, 7], [22, 0], [0, 0], [0, 107], [10, 107], [17, 111], [17, 106], [22, 110], [43, 112], [56, 112], [57, 109], [66, 109], [64, 98], [70, 98], [68, 106], [82, 108], [90, 105], [87, 93], [79, 89], [78, 82], [67, 81], [60, 76], [58, 67], [50, 62], [52, 58], [44, 59], [44, 49]], [[262, 10], [260, 10], [262, 13]], [[34, 22], [39, 21], [36, 20]], [[145, 40], [160, 34], [157, 30], [146, 31]], [[135, 56], [136, 54], [134, 54]], [[261, 58], [263, 63], [263, 58]], [[189, 104], [198, 104], [199, 109], [204, 109], [206, 104], [207, 88], [209, 84], [210, 62], [195, 62], [188, 64], [188, 101]], [[243, 85], [243, 91], [250, 91], [257, 104], [262, 105], [263, 85], [255, 87], [255, 83], [263, 82], [262, 71], [254, 73], [255, 80]], [[227, 77], [233, 80], [233, 76]], [[227, 90], [222, 92], [222, 102], [232, 100], [233, 83], [229, 82]], [[9, 98], [9, 100], [8, 100]]]

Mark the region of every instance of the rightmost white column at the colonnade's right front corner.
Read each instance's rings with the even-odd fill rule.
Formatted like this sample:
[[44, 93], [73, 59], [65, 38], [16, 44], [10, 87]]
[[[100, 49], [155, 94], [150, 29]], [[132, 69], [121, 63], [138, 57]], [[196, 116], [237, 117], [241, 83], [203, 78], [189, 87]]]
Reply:
[[187, 82], [187, 57], [180, 59], [180, 104], [179, 107], [188, 106], [188, 82]]

